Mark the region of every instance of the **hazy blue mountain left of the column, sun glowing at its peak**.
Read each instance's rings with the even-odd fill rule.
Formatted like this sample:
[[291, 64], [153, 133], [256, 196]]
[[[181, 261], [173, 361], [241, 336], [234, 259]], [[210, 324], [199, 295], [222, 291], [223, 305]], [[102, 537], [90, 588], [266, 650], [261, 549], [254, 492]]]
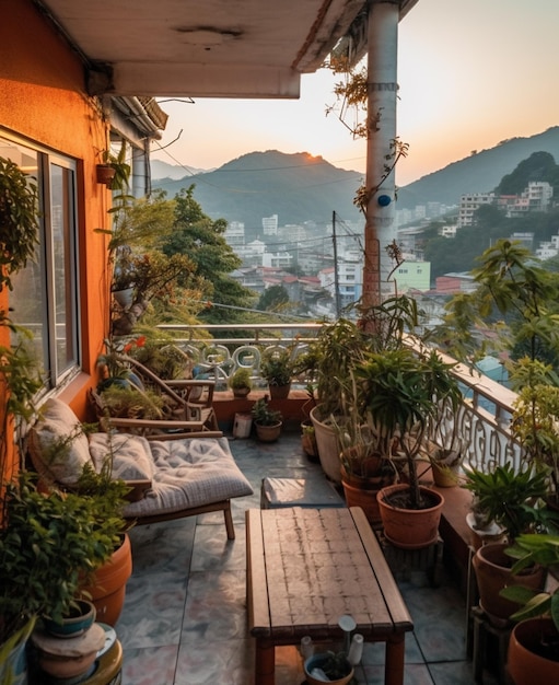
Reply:
[[209, 217], [241, 221], [261, 231], [263, 217], [278, 214], [280, 225], [305, 221], [331, 222], [333, 211], [346, 221], [359, 221], [353, 196], [363, 181], [359, 172], [338, 169], [322, 156], [277, 150], [249, 152], [216, 171], [174, 181], [156, 178], [153, 187], [174, 197], [195, 184], [195, 199]]

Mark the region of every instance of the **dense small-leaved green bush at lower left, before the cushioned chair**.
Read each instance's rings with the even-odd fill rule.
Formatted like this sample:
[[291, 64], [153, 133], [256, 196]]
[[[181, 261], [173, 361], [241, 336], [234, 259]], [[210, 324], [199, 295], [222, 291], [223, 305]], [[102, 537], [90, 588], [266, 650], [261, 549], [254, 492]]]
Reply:
[[84, 579], [119, 544], [124, 522], [114, 515], [113, 495], [45, 494], [28, 474], [7, 486], [4, 499], [0, 643], [42, 614], [60, 622]]

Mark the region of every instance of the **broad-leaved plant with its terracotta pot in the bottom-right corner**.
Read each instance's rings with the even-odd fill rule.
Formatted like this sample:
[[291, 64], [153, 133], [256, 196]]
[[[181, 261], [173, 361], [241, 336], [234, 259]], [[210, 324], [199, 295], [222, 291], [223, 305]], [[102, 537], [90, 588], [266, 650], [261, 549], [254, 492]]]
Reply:
[[559, 682], [559, 536], [524, 534], [508, 549], [513, 572], [537, 565], [549, 571], [546, 590], [508, 587], [501, 594], [521, 608], [509, 641], [508, 671], [515, 685]]

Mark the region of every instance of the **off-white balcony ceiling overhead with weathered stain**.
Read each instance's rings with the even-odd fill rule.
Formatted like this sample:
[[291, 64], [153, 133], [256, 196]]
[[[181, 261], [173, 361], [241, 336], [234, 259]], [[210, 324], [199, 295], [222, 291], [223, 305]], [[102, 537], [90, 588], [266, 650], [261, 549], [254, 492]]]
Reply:
[[[375, 0], [373, 0], [375, 1]], [[399, 0], [404, 15], [418, 0]], [[35, 0], [89, 63], [92, 94], [298, 97], [365, 0]]]

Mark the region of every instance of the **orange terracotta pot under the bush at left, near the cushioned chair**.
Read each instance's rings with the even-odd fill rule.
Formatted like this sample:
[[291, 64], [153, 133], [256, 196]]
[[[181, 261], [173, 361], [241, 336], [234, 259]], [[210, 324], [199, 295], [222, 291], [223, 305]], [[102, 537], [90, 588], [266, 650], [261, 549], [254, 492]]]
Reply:
[[126, 583], [132, 573], [132, 549], [128, 535], [110, 560], [93, 574], [91, 585], [84, 588], [97, 612], [97, 620], [114, 626], [125, 603]]

